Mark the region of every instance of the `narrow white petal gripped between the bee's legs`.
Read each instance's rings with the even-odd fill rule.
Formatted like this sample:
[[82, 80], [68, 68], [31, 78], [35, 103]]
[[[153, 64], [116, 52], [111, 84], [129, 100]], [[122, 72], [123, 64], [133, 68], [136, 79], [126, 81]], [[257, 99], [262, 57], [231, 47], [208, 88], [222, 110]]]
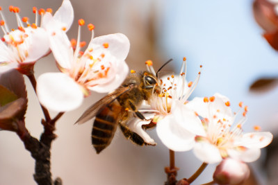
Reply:
[[[150, 119], [154, 117], [154, 114], [143, 114], [146, 119]], [[149, 124], [150, 121], [142, 121], [140, 118], [134, 117], [129, 121], [128, 127], [132, 132], [136, 132], [139, 136], [144, 139], [146, 143], [149, 143], [149, 145], [155, 146], [156, 142], [154, 142], [154, 139], [152, 139], [145, 130], [142, 129], [142, 125]]]

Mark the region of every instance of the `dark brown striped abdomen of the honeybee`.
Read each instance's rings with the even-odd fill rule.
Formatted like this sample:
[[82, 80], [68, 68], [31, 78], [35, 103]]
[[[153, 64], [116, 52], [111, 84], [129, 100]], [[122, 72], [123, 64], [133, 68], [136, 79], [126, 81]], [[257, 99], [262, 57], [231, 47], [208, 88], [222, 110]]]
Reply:
[[117, 123], [122, 117], [123, 109], [117, 100], [101, 107], [101, 111], [97, 114], [92, 125], [92, 145], [97, 154], [110, 145], [117, 129]]

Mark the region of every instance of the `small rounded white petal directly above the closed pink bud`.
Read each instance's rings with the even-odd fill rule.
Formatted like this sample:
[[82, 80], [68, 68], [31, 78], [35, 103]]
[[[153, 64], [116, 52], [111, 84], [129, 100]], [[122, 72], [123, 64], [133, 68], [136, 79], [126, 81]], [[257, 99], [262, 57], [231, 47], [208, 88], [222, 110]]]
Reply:
[[196, 157], [205, 163], [213, 164], [222, 161], [218, 148], [211, 143], [197, 142], [193, 151]]

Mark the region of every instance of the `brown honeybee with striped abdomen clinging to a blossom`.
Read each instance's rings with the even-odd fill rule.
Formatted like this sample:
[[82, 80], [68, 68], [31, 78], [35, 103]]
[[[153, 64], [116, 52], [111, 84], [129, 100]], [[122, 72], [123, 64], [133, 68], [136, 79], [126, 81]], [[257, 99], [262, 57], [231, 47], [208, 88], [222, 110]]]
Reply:
[[136, 132], [129, 130], [126, 123], [133, 116], [146, 120], [138, 111], [138, 107], [143, 100], [149, 100], [152, 94], [160, 92], [161, 87], [152, 73], [148, 71], [130, 73], [120, 87], [89, 107], [76, 123], [85, 123], [95, 117], [92, 126], [92, 146], [97, 154], [110, 145], [117, 125], [120, 126], [126, 139], [139, 146], [149, 145]]

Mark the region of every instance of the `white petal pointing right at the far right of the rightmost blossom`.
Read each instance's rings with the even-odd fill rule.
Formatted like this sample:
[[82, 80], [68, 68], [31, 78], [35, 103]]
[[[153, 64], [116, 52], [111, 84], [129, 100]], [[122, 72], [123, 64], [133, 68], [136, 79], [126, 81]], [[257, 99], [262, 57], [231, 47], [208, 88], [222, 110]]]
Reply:
[[235, 146], [245, 146], [247, 148], [263, 148], [268, 146], [273, 139], [270, 132], [250, 132], [243, 134], [240, 140], [235, 141]]

